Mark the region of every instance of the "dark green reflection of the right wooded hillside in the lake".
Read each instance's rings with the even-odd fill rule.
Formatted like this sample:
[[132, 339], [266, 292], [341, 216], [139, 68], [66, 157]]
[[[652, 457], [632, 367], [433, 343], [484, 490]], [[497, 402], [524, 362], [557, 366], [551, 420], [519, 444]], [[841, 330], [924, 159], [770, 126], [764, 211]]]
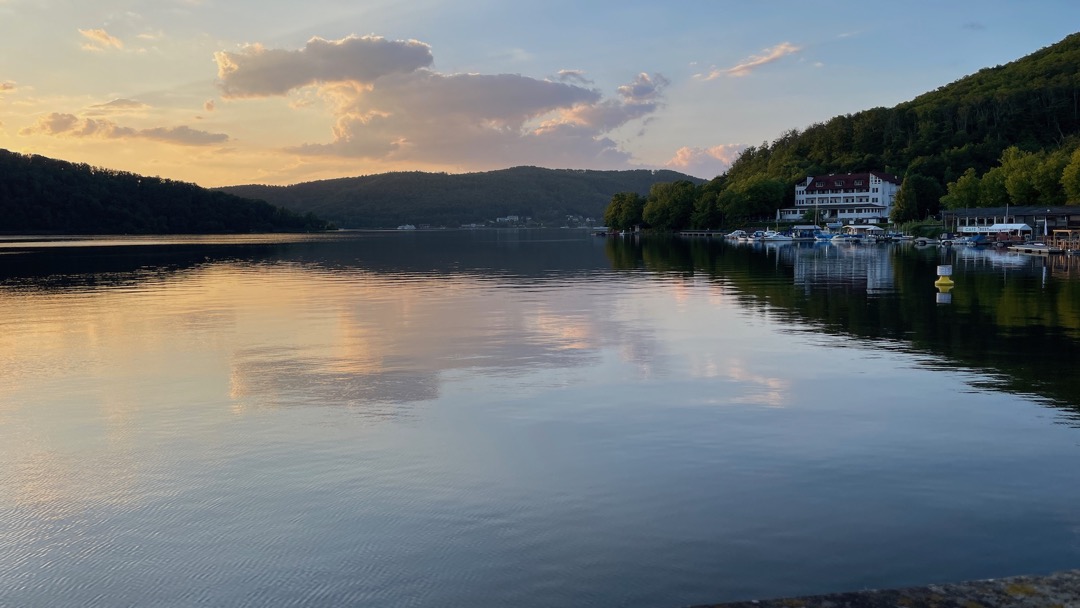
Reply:
[[[616, 268], [707, 275], [745, 306], [882, 348], [945, 357], [1080, 415], [1080, 260], [910, 245], [753, 246], [716, 240], [611, 242]], [[954, 266], [949, 305], [936, 267]], [[944, 365], [939, 362], [935, 365]], [[1080, 416], [1078, 416], [1080, 420]]]

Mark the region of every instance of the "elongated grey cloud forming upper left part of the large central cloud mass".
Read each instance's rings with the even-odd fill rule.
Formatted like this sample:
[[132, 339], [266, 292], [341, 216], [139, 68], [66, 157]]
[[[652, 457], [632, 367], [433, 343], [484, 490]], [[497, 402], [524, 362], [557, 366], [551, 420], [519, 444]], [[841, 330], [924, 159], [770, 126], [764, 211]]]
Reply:
[[226, 98], [285, 95], [312, 84], [370, 84], [381, 77], [430, 66], [431, 48], [416, 40], [350, 36], [341, 40], [312, 38], [299, 51], [245, 46], [239, 53], [214, 54]]

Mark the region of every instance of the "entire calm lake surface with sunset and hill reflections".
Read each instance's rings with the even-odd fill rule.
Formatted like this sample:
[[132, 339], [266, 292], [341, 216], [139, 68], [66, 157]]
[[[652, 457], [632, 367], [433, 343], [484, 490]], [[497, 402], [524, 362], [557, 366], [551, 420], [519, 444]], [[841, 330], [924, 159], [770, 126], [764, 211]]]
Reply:
[[1077, 568], [1078, 355], [1071, 257], [8, 239], [0, 606], [678, 607]]

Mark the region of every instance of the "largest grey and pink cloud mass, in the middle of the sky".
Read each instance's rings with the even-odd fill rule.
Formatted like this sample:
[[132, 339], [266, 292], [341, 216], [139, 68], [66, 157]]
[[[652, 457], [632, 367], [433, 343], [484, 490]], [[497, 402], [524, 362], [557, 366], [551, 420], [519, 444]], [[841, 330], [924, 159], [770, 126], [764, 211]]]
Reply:
[[669, 84], [642, 73], [605, 98], [575, 70], [557, 80], [445, 75], [430, 69], [428, 45], [376, 37], [313, 39], [292, 52], [255, 45], [217, 56], [227, 97], [315, 85], [334, 114], [333, 138], [289, 151], [460, 168], [624, 167], [630, 156], [607, 134], [657, 111]]

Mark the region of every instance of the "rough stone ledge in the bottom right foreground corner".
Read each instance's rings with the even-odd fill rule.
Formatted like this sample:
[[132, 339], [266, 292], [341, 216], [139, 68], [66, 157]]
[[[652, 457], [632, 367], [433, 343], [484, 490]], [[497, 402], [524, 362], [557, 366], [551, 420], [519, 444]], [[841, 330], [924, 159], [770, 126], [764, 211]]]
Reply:
[[[710, 604], [710, 608], [1077, 608], [1080, 570], [907, 589]], [[704, 606], [699, 608], [705, 608]]]

